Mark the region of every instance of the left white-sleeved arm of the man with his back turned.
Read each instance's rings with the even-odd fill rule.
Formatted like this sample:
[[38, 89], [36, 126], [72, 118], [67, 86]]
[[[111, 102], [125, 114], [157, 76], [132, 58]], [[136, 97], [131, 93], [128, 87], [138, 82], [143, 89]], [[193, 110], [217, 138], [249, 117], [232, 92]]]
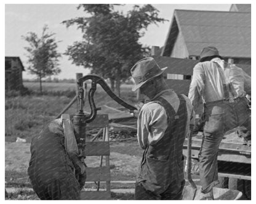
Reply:
[[193, 69], [193, 77], [190, 83], [190, 91], [188, 93], [188, 98], [190, 99], [194, 109], [199, 106], [201, 96], [204, 93], [204, 80], [204, 71], [201, 63], [198, 63]]

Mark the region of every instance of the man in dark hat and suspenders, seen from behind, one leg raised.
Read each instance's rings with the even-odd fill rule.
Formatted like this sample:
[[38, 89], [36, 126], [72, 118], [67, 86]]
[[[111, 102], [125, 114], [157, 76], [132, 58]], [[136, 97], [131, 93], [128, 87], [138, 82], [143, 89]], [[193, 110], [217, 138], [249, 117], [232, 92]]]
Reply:
[[250, 76], [234, 64], [225, 63], [217, 48], [205, 47], [193, 69], [188, 97], [194, 109], [204, 103], [204, 130], [199, 152], [199, 173], [205, 200], [214, 200], [218, 184], [218, 146], [227, 130], [245, 126], [250, 130]]

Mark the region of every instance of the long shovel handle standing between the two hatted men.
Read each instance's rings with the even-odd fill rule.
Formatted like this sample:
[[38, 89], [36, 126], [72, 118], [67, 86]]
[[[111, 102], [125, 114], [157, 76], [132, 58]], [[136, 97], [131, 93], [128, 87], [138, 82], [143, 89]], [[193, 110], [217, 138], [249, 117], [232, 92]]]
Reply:
[[190, 134], [188, 135], [188, 148], [187, 148], [187, 157], [186, 157], [186, 165], [187, 165], [187, 179], [193, 189], [196, 189], [196, 184], [194, 183], [191, 177], [191, 143], [192, 143], [192, 135], [193, 135], [193, 125], [190, 125]]

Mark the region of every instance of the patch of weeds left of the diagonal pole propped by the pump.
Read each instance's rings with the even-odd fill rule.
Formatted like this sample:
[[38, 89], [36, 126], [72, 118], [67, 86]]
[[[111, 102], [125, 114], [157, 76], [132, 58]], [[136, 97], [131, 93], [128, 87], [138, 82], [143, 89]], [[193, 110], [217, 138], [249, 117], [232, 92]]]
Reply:
[[70, 102], [66, 96], [16, 96], [6, 98], [6, 141], [16, 137], [28, 142]]

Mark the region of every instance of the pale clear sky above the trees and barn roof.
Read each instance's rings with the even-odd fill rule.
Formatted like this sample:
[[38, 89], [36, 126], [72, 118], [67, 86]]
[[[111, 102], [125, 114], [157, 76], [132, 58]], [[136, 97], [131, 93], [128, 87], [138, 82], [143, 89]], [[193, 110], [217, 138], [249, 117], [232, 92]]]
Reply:
[[[140, 4], [142, 5], [142, 4]], [[145, 32], [145, 36], [140, 39], [143, 45], [162, 47], [167, 37], [174, 9], [187, 10], [223, 10], [228, 11], [231, 4], [152, 4], [159, 10], [159, 17], [169, 21], [150, 25]], [[18, 56], [22, 60], [23, 66], [28, 67], [27, 52], [24, 47], [28, 43], [22, 39], [27, 32], [35, 32], [40, 36], [42, 27], [49, 26], [49, 32], [55, 33], [55, 39], [61, 40], [58, 43], [58, 51], [64, 53], [68, 45], [79, 41], [82, 38], [80, 30], [76, 26], [66, 28], [61, 22], [84, 15], [81, 9], [77, 9], [78, 4], [5, 4], [5, 56]], [[132, 9], [134, 4], [125, 4], [118, 9], [126, 12]], [[89, 70], [71, 64], [68, 56], [62, 55], [60, 58], [60, 69], [62, 72], [57, 78], [75, 78], [77, 72], [84, 75], [89, 74]], [[23, 78], [32, 79], [36, 75], [30, 75], [28, 71], [23, 72]]]

